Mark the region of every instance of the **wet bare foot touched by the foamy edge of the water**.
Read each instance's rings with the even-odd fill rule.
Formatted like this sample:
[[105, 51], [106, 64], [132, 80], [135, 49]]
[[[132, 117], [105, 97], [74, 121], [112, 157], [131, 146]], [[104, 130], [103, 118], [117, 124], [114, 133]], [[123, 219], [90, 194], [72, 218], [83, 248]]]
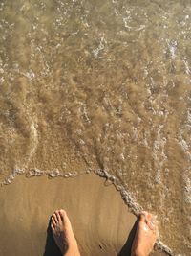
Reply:
[[148, 256], [158, 238], [158, 221], [150, 213], [142, 212], [138, 222], [131, 256]]

